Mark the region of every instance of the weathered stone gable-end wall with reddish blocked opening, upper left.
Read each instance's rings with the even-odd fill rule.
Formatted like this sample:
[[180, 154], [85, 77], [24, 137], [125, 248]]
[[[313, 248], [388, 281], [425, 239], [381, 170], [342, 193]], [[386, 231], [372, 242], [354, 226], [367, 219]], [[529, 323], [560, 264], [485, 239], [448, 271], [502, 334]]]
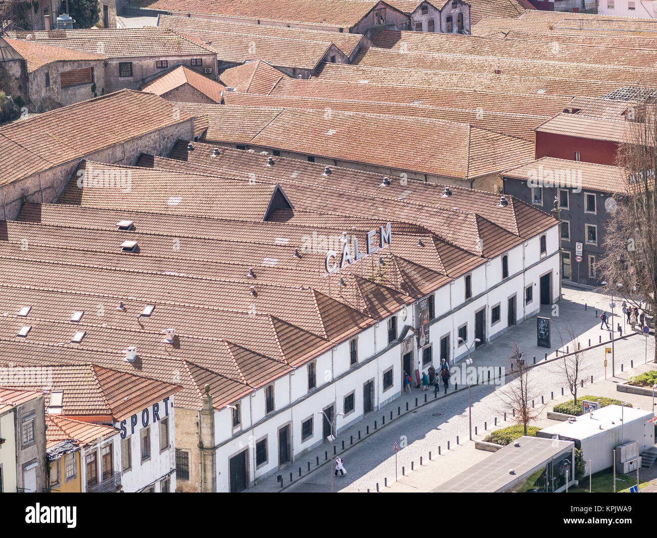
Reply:
[[[45, 112], [57, 106], [86, 101], [106, 93], [102, 62], [103, 60], [53, 62], [34, 70], [30, 73], [30, 112]], [[89, 67], [93, 68], [93, 83], [61, 87], [62, 73]], [[49, 75], [50, 87], [45, 86], [46, 73]]]

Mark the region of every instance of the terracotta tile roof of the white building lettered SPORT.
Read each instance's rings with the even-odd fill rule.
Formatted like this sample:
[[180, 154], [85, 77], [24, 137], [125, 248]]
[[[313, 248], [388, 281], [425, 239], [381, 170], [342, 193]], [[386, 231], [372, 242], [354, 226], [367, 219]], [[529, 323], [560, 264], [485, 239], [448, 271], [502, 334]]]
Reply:
[[[12, 353], [5, 355], [0, 349], [0, 363], [12, 363]], [[43, 358], [37, 359], [43, 364]], [[30, 370], [31, 375], [18, 375], [20, 367], [9, 366], [9, 372], [16, 368], [16, 375], [7, 378], [7, 385], [16, 388], [32, 388], [45, 393], [45, 405], [49, 406], [51, 391], [63, 391], [62, 415], [68, 416], [108, 416], [112, 420], [124, 420], [133, 413], [175, 394], [179, 386], [148, 379], [142, 376], [127, 375], [91, 364], [67, 366], [39, 366]], [[13, 383], [15, 380], [16, 384]]]

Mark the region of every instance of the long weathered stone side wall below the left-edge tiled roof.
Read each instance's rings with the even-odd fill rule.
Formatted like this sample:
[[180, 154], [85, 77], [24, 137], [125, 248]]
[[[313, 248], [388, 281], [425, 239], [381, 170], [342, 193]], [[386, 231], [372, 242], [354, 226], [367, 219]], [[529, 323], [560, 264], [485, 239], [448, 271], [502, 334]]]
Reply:
[[[175, 121], [175, 118], [172, 118], [172, 120]], [[0, 189], [0, 200], [3, 202], [0, 219], [16, 219], [18, 213], [20, 213], [23, 200], [55, 204], [79, 162], [83, 159], [135, 166], [142, 153], [167, 156], [179, 139], [194, 139], [193, 120], [175, 123], [169, 127], [131, 139], [123, 144], [81, 156], [60, 166], [55, 166], [5, 185]]]

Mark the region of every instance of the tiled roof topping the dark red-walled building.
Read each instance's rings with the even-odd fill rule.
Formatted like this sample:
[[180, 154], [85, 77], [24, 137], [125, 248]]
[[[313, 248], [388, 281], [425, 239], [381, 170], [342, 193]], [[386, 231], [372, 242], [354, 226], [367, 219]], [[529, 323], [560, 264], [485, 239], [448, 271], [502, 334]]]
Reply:
[[629, 140], [632, 125], [632, 122], [625, 120], [608, 120], [581, 114], [558, 114], [536, 127], [535, 131], [623, 143]]

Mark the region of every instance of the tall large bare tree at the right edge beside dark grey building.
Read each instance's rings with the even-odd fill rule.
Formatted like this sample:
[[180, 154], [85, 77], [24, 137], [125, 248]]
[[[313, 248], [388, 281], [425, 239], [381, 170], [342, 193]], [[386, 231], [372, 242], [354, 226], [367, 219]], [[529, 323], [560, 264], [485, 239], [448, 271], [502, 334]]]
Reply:
[[[627, 112], [627, 134], [618, 152], [622, 183], [606, 225], [604, 256], [597, 269], [604, 291], [645, 311], [657, 311], [657, 93], [637, 87], [637, 104]], [[656, 336], [657, 343], [657, 336]], [[657, 346], [654, 361], [657, 363]]]

